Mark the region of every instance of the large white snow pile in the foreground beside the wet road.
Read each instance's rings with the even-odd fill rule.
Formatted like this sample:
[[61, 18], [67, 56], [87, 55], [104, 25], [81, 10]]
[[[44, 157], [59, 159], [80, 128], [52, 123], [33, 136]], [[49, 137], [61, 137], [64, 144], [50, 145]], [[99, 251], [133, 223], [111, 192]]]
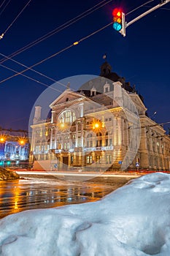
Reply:
[[0, 221], [2, 256], [170, 255], [170, 176], [152, 173], [93, 203]]

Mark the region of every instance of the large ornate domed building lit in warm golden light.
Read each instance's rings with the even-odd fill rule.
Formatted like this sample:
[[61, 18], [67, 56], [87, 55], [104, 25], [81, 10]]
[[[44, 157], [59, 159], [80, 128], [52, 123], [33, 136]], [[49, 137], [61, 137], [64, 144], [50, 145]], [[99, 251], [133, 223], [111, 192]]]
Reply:
[[169, 170], [169, 136], [147, 116], [135, 86], [112, 72], [107, 61], [99, 78], [78, 91], [66, 89], [50, 108], [51, 119], [43, 121], [36, 106], [31, 126], [34, 169]]

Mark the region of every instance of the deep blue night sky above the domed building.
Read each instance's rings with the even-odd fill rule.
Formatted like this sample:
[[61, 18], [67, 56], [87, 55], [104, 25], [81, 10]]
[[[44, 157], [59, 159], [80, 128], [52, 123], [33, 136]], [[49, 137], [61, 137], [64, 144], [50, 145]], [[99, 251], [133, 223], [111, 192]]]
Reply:
[[[1, 0], [0, 5], [2, 2]], [[28, 0], [11, 0], [4, 12], [1, 13], [3, 8], [0, 9], [0, 34], [7, 29], [27, 2]], [[0, 53], [8, 56], [100, 2], [101, 0], [32, 0], [4, 35], [4, 39], [0, 40]], [[112, 10], [115, 7], [121, 7], [125, 13], [128, 13], [144, 2], [144, 0], [111, 1], [67, 29], [20, 53], [14, 59], [31, 66], [112, 22]], [[155, 0], [147, 6], [150, 7], [159, 2], [161, 1]], [[142, 7], [127, 15], [126, 20], [130, 21], [148, 9], [148, 7]], [[125, 38], [114, 31], [111, 25], [79, 45], [45, 61], [35, 69], [55, 80], [72, 75], [99, 75], [100, 66], [104, 62], [102, 56], [107, 53], [107, 61], [111, 64], [112, 71], [125, 77], [131, 85], [135, 84], [136, 89], [143, 95], [149, 115], [152, 116], [157, 111], [155, 121], [158, 123], [170, 121], [169, 14], [170, 4], [166, 4], [163, 8], [155, 10], [129, 26]], [[0, 56], [1, 58], [3, 57]], [[6, 61], [3, 64], [18, 71], [23, 70], [23, 67], [12, 61]], [[13, 74], [0, 67], [0, 81]], [[25, 74], [49, 86], [53, 83], [31, 71]], [[20, 75], [0, 83], [0, 126], [28, 129], [31, 108], [36, 98], [45, 89], [45, 86]], [[170, 124], [167, 127], [170, 127]]]

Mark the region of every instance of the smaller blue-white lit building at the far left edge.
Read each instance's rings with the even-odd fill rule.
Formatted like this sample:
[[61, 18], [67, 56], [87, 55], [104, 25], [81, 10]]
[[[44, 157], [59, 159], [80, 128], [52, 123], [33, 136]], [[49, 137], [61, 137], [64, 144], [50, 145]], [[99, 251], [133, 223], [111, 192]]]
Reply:
[[29, 143], [27, 132], [22, 130], [0, 130], [0, 166], [19, 165], [28, 161]]

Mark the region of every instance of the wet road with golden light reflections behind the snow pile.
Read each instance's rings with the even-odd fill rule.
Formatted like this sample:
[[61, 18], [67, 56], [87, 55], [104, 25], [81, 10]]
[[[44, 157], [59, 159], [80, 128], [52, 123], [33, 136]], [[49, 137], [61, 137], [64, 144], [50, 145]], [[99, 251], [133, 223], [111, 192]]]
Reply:
[[0, 218], [28, 209], [95, 201], [121, 187], [125, 181], [112, 185], [47, 179], [0, 181]]

